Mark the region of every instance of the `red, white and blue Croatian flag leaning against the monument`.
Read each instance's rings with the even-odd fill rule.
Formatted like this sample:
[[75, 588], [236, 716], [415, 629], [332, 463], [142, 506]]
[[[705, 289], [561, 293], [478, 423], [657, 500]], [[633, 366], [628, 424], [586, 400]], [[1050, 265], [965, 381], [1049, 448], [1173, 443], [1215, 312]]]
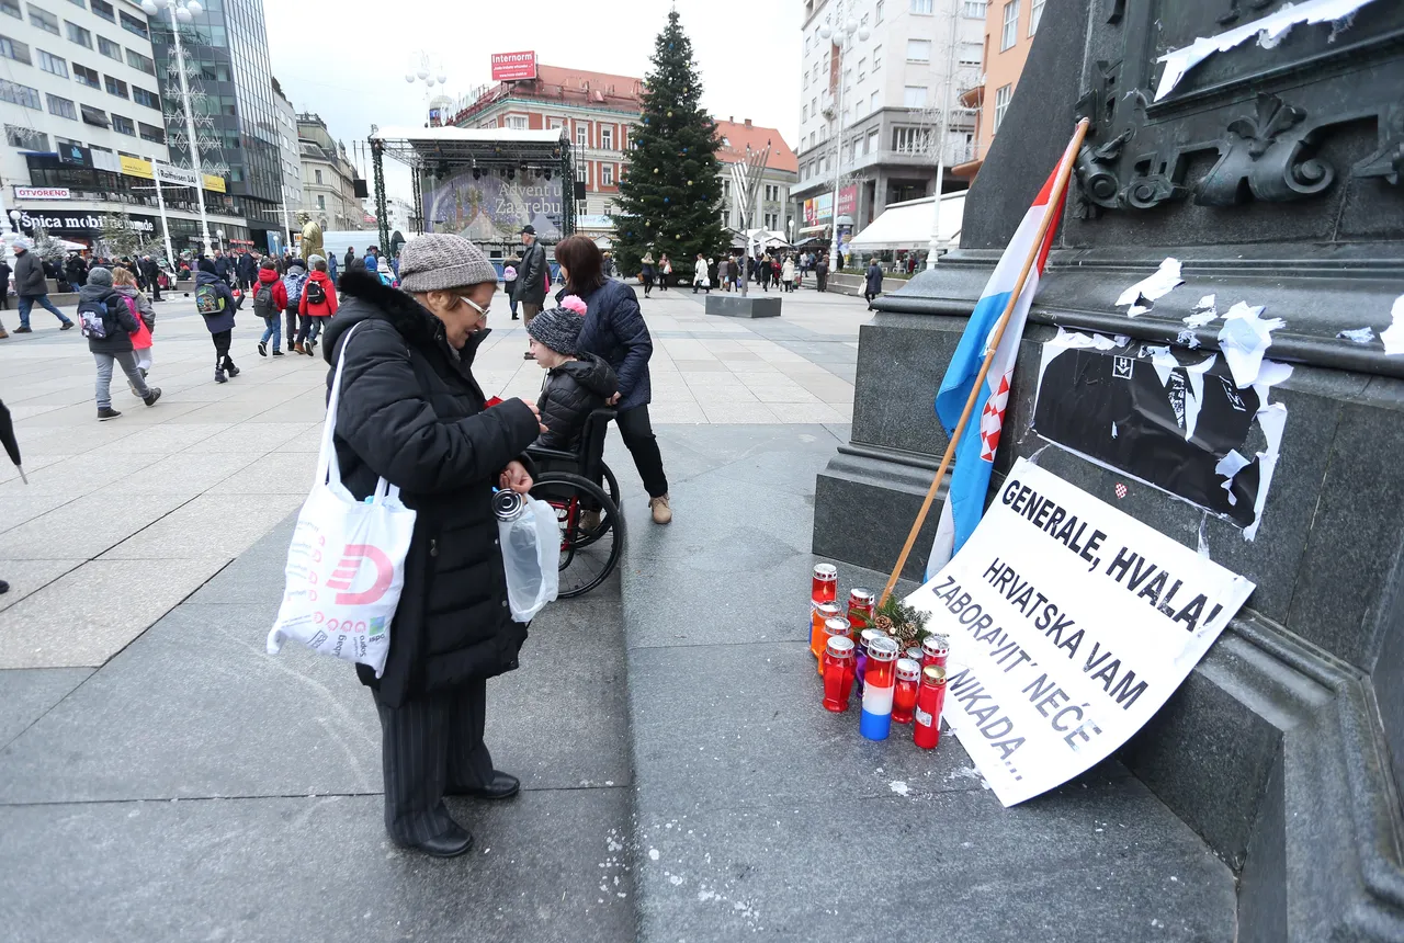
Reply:
[[[1073, 154], [1066, 153], [1063, 160], [1071, 160]], [[1054, 181], [1061, 170], [1061, 163], [1049, 174], [1039, 191], [1033, 206], [1024, 215], [1018, 232], [1009, 240], [1009, 246], [1000, 257], [1000, 264], [980, 295], [980, 303], [970, 314], [960, 344], [955, 356], [946, 368], [946, 376], [941, 380], [941, 390], [936, 392], [936, 417], [946, 434], [955, 431], [965, 404], [970, 399], [970, 390], [980, 375], [980, 365], [988, 352], [988, 340], [995, 324], [1009, 305], [1009, 296], [1019, 281], [1019, 271], [1029, 258], [1033, 241], [1039, 237], [1039, 229], [1047, 213], [1054, 213], [1054, 223], [1049, 226], [1039, 248], [1038, 261], [1029, 269], [1029, 276], [1024, 282], [1024, 292], [1018, 303], [1009, 313], [1009, 326], [1004, 330], [1000, 349], [990, 362], [990, 372], [984, 377], [986, 389], [976, 400], [976, 413], [970, 415], [970, 427], [979, 421], [979, 435], [974, 428], [966, 428], [956, 446], [955, 472], [951, 474], [951, 490], [946, 493], [946, 504], [941, 509], [941, 521], [936, 523], [936, 540], [931, 547], [931, 559], [927, 561], [927, 580], [936, 575], [941, 567], [946, 566], [952, 554], [974, 532], [980, 516], [984, 514], [984, 495], [990, 488], [990, 472], [994, 469], [994, 450], [1000, 445], [1000, 429], [1004, 425], [1004, 408], [1009, 400], [1009, 383], [1014, 379], [1014, 361], [1019, 354], [1019, 340], [1024, 337], [1024, 321], [1029, 316], [1029, 305], [1035, 292], [1039, 290], [1039, 275], [1047, 261], [1049, 248], [1053, 244], [1053, 233], [1057, 229], [1057, 218], [1063, 213], [1063, 203], [1067, 195], [1059, 198], [1057, 206], [1049, 205]]]

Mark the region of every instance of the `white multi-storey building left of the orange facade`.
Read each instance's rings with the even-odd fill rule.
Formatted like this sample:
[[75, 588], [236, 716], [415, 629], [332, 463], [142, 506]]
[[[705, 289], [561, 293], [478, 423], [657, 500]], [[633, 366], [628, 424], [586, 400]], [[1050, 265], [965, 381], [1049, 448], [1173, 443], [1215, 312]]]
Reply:
[[[943, 111], [942, 157], [948, 167], [966, 159], [976, 125], [959, 95], [979, 83], [987, 10], [984, 0], [803, 3], [793, 212], [803, 220], [800, 236], [826, 239], [833, 236], [835, 182], [840, 223], [855, 230], [890, 203], [935, 191]], [[855, 32], [841, 51], [835, 44], [848, 21], [869, 35]], [[834, 29], [828, 39], [826, 25]], [[943, 189], [963, 185], [946, 175]]]

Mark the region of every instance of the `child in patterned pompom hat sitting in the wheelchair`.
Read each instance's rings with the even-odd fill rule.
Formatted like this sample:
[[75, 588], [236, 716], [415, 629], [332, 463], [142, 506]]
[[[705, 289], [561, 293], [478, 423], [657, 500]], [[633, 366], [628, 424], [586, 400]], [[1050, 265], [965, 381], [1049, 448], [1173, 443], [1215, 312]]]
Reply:
[[619, 390], [619, 380], [605, 361], [576, 351], [580, 328], [585, 324], [584, 312], [576, 309], [584, 309], [584, 302], [570, 295], [562, 300], [562, 307], [552, 307], [526, 321], [531, 352], [546, 370], [536, 401], [546, 432], [535, 445], [559, 452], [580, 449], [585, 417]]

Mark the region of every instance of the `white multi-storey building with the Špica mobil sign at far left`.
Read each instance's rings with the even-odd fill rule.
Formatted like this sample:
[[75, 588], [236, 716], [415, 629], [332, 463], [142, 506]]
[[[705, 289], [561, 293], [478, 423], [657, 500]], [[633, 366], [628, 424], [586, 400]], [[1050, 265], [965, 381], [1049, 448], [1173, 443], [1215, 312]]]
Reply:
[[[129, 220], [159, 243], [159, 168], [173, 247], [198, 246], [195, 180], [170, 166], [157, 72], [135, 3], [0, 0], [0, 225], [97, 248]], [[225, 181], [202, 182], [211, 230], [247, 237]]]

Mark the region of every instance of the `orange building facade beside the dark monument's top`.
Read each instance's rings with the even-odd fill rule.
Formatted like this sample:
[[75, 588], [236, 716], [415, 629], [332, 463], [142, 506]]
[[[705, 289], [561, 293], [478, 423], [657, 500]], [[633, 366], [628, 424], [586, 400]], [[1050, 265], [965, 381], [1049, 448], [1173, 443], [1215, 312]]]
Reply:
[[980, 80], [963, 90], [960, 104], [977, 115], [969, 157], [952, 168], [956, 177], [973, 181], [994, 135], [1014, 100], [1029, 48], [1039, 32], [1046, 0], [991, 0], [984, 20], [984, 70]]

